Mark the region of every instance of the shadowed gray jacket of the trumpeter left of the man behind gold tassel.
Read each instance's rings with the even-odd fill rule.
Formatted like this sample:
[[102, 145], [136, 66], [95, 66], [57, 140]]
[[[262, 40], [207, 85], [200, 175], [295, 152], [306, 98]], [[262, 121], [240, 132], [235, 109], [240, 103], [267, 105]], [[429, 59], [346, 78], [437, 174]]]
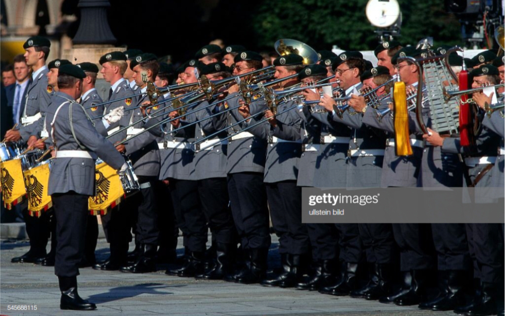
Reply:
[[[385, 108], [387, 108], [387, 103], [384, 101], [379, 110]], [[372, 112], [373, 108], [369, 107], [368, 111]], [[372, 153], [372, 150], [379, 150], [383, 153], [386, 146], [386, 133], [363, 124], [363, 115], [354, 109], [348, 109], [343, 113], [341, 119], [334, 116], [334, 120], [352, 128], [349, 150], [354, 155], [350, 156], [347, 161], [347, 188], [379, 187], [381, 185], [384, 155], [374, 153], [370, 156], [355, 156], [357, 154], [355, 150], [358, 152], [363, 150], [365, 154]]]

